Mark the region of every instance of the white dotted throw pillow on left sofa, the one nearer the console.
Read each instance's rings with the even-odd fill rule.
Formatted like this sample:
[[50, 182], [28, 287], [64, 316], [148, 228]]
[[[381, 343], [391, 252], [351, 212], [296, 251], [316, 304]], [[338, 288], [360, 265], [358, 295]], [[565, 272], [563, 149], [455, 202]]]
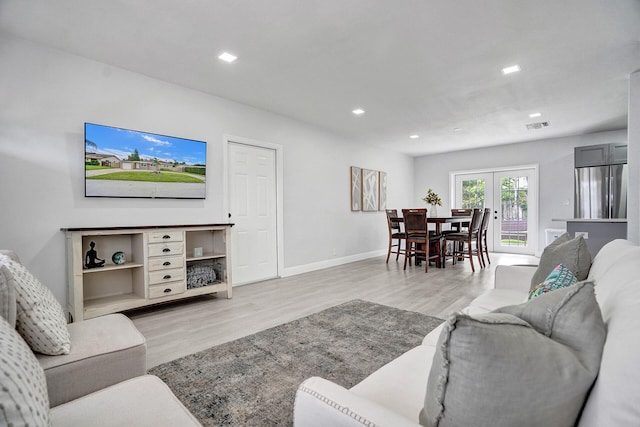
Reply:
[[68, 354], [71, 346], [62, 306], [22, 264], [0, 255], [16, 293], [16, 329], [33, 351]]

